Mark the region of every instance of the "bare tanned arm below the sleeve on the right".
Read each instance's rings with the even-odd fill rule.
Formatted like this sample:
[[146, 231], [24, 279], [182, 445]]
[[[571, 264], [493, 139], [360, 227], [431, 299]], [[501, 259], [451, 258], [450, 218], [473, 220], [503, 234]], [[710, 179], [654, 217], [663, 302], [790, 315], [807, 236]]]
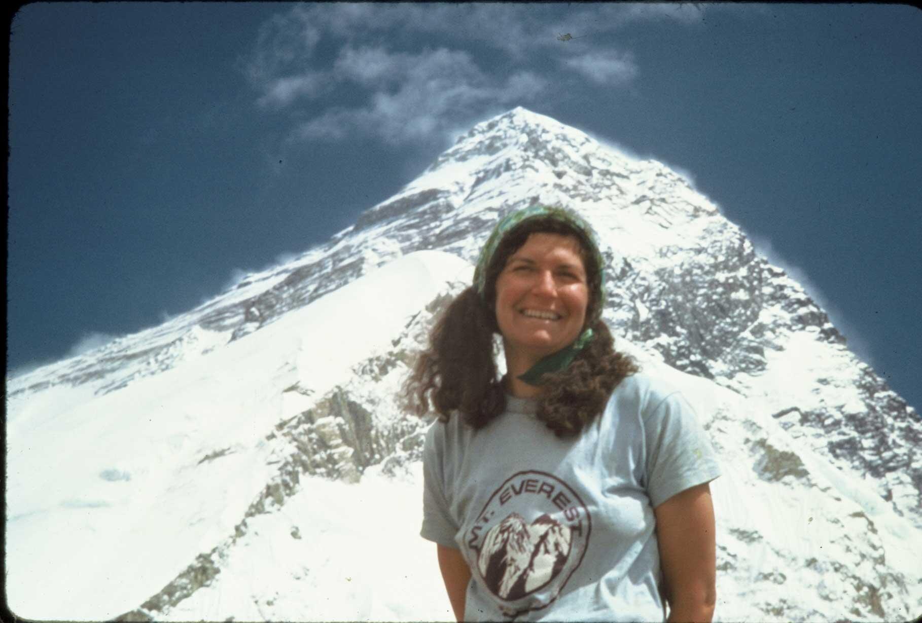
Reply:
[[711, 488], [685, 489], [654, 509], [669, 623], [714, 617], [715, 525]]

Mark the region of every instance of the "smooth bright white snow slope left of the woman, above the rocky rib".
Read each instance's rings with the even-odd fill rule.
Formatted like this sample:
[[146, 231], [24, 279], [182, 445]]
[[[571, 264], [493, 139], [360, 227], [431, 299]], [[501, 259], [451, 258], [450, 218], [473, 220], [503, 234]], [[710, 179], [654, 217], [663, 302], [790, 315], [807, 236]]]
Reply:
[[276, 472], [265, 437], [287, 415], [283, 390], [301, 382], [323, 394], [465, 270], [454, 256], [414, 253], [122, 391], [59, 387], [10, 406], [10, 608], [81, 620], [144, 602], [190, 553], [232, 535]]

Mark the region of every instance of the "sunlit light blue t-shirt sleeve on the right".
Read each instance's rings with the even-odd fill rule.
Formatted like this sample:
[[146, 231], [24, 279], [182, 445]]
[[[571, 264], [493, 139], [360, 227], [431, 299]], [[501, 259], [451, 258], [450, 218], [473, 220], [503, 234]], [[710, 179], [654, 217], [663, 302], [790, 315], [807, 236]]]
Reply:
[[720, 476], [720, 466], [694, 409], [678, 392], [644, 418], [647, 494], [654, 508]]

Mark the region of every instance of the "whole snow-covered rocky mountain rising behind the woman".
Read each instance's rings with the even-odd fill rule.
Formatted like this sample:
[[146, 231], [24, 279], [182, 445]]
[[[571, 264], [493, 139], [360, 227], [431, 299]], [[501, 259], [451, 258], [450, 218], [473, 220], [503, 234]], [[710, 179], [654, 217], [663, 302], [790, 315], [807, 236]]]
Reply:
[[533, 203], [595, 225], [616, 345], [725, 466], [716, 619], [922, 614], [916, 411], [680, 175], [521, 108], [290, 263], [7, 380], [10, 607], [451, 620], [398, 388], [496, 219]]

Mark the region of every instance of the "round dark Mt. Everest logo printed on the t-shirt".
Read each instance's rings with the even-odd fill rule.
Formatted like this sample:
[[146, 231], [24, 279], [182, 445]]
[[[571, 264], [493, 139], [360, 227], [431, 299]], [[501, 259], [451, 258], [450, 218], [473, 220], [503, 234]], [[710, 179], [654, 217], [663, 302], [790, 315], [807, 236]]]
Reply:
[[531, 470], [493, 492], [466, 540], [476, 559], [472, 566], [503, 613], [514, 617], [557, 599], [583, 561], [590, 529], [573, 488]]

